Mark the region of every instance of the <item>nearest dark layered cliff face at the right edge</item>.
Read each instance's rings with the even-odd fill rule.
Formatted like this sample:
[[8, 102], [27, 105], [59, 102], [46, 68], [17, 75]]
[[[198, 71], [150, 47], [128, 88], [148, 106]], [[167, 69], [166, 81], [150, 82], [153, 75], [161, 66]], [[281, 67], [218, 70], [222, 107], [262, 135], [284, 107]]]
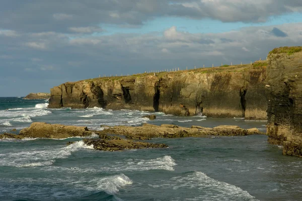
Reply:
[[268, 56], [267, 134], [270, 143], [283, 145], [284, 155], [302, 156], [302, 52], [292, 49]]

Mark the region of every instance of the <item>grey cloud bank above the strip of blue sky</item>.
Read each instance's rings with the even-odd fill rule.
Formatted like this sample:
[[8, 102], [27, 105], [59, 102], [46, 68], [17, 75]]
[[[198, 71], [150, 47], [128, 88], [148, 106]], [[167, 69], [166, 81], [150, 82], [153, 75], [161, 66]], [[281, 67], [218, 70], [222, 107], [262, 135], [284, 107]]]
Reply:
[[10, 0], [0, 8], [0, 28], [18, 32], [88, 33], [85, 28], [100, 24], [136, 27], [158, 17], [257, 23], [293, 12], [302, 12], [302, 1], [74, 0], [64, 1], [62, 6], [59, 1]]

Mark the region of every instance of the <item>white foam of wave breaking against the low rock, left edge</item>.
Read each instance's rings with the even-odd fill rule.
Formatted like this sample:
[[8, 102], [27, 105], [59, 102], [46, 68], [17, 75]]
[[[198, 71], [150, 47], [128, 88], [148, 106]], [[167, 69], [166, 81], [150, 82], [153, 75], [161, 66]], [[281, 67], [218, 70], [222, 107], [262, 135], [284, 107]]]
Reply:
[[44, 166], [51, 165], [55, 159], [67, 158], [72, 152], [81, 149], [93, 149], [93, 145], [86, 145], [83, 141], [75, 142], [63, 148], [46, 150], [26, 150], [0, 154], [0, 166]]

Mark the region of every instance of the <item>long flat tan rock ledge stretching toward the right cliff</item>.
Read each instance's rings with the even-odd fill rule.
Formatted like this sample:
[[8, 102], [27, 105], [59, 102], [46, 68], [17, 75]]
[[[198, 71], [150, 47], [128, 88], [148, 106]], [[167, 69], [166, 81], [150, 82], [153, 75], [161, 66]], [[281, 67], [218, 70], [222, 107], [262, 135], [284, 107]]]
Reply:
[[257, 128], [242, 129], [238, 126], [226, 125], [221, 125], [214, 128], [205, 128], [201, 126], [185, 128], [169, 124], [163, 124], [161, 126], [143, 124], [140, 127], [105, 127], [105, 129], [100, 131], [100, 133], [105, 135], [123, 135], [126, 136], [126, 138], [135, 140], [146, 140], [150, 138], [265, 135], [265, 133], [260, 132]]

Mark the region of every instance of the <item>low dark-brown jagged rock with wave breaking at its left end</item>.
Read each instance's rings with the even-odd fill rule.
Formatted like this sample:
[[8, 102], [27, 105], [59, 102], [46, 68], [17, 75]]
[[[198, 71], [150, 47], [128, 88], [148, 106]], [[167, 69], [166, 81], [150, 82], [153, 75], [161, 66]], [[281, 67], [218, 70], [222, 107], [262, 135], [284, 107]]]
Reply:
[[166, 148], [165, 144], [155, 144], [147, 142], [134, 142], [130, 140], [104, 140], [104, 139], [83, 139], [87, 145], [93, 145], [94, 149], [101, 151], [121, 151], [125, 149], [145, 149], [145, 148]]

